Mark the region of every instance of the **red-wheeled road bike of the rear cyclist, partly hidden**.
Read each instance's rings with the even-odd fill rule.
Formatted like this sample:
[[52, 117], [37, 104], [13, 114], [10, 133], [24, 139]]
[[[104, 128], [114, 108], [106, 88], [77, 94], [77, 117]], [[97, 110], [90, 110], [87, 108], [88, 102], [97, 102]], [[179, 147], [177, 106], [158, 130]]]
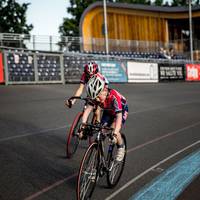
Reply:
[[[79, 131], [79, 128], [80, 128], [80, 125], [82, 123], [82, 116], [83, 116], [83, 112], [86, 108], [86, 105], [87, 105], [87, 102], [89, 101], [89, 98], [84, 98], [84, 97], [76, 97], [76, 96], [73, 96], [69, 99], [69, 102], [71, 102], [73, 99], [79, 99], [79, 100], [82, 100], [82, 101], [85, 101], [85, 105], [83, 107], [83, 110], [81, 112], [78, 112], [71, 127], [70, 127], [70, 131], [69, 133], [67, 132], [67, 142], [66, 142], [66, 156], [67, 158], [71, 158], [77, 151], [78, 149], [78, 146], [79, 146], [79, 143], [82, 139], [79, 138], [79, 135], [78, 135], [78, 131]], [[70, 105], [71, 107], [72, 105]], [[91, 123], [94, 123], [95, 120], [96, 120], [96, 116], [95, 116], [95, 110], [93, 110], [93, 116], [92, 116], [92, 119], [91, 119]], [[84, 139], [88, 138], [88, 142], [89, 144], [92, 143], [92, 138], [91, 136], [87, 137], [86, 135], [84, 135], [83, 137]]]

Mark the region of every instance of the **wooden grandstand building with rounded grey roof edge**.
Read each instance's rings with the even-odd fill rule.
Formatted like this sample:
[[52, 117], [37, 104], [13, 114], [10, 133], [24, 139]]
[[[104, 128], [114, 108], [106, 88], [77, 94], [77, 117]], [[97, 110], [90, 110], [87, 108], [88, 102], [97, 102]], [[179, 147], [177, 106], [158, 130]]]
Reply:
[[[85, 51], [105, 49], [103, 12], [103, 3], [95, 2], [82, 14], [80, 33]], [[193, 39], [200, 40], [200, 6], [192, 8], [192, 17]], [[188, 18], [187, 7], [107, 3], [109, 49], [111, 51], [116, 49], [112, 45], [113, 40], [126, 40], [130, 42], [148, 41], [154, 46], [156, 44], [157, 47], [160, 44], [173, 43], [175, 50], [189, 51], [189, 44], [186, 42], [189, 41]], [[126, 49], [134, 51], [128, 46]]]

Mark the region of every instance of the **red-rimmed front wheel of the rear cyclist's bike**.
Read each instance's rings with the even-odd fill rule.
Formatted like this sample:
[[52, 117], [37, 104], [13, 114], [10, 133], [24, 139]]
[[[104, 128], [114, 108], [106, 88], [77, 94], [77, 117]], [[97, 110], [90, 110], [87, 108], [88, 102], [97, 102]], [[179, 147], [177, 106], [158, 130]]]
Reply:
[[71, 158], [77, 148], [78, 148], [78, 145], [79, 145], [79, 137], [78, 135], [76, 134], [78, 132], [78, 129], [79, 129], [79, 126], [81, 124], [81, 118], [83, 116], [83, 113], [82, 112], [79, 112], [72, 125], [71, 125], [71, 128], [70, 128], [70, 131], [69, 131], [69, 134], [68, 134], [68, 137], [67, 137], [67, 145], [66, 145], [66, 156], [67, 158]]

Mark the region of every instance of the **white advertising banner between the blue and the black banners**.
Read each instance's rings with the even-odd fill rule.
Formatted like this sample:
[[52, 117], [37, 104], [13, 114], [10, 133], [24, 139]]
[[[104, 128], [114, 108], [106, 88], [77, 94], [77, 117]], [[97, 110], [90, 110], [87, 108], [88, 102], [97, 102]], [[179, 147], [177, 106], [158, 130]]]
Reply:
[[158, 82], [157, 63], [128, 62], [128, 82], [153, 83]]

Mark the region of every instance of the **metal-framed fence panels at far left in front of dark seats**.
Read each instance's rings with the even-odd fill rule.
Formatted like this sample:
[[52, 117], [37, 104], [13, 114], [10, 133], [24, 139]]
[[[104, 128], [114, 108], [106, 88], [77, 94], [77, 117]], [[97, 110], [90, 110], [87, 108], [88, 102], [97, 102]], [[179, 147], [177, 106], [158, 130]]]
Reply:
[[6, 84], [64, 83], [63, 56], [4, 51]]

